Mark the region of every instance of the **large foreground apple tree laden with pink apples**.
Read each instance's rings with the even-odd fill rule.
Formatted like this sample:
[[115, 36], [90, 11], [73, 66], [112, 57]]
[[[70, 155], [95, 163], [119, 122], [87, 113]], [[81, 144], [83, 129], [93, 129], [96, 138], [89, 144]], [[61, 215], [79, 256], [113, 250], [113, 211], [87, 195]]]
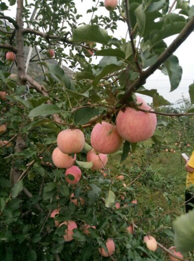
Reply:
[[[164, 260], [166, 252], [184, 260], [193, 250], [193, 230], [187, 244], [179, 229], [192, 224], [193, 213], [176, 221], [177, 252], [170, 252], [159, 242], [174, 237], [170, 216], [156, 221], [146, 210], [146, 222], [138, 222], [138, 176], [119, 175], [139, 141], [162, 142], [154, 135], [158, 107], [169, 102], [143, 85], [158, 69], [171, 92], [178, 88], [182, 68], [173, 53], [194, 29], [193, 10], [181, 0], [0, 2], [1, 260]], [[115, 37], [118, 21], [126, 39]], [[24, 50], [31, 47], [41, 59], [30, 72]], [[47, 63], [52, 57], [57, 63]], [[193, 113], [189, 90], [191, 106], [179, 116]], [[116, 168], [107, 167], [112, 153], [121, 155]]]

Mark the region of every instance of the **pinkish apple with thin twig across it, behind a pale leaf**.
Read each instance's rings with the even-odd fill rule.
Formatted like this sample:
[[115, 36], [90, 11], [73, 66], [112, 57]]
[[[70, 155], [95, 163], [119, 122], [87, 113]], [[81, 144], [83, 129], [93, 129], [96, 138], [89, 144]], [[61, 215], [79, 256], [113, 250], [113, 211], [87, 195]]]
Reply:
[[88, 151], [87, 162], [92, 162], [92, 170], [99, 170], [104, 168], [107, 164], [107, 154], [97, 153], [94, 149]]

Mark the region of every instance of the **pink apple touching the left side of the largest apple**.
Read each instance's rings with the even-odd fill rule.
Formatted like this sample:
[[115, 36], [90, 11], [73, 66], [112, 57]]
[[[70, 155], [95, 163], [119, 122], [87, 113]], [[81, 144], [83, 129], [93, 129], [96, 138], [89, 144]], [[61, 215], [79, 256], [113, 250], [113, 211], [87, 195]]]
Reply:
[[103, 154], [117, 152], [123, 145], [123, 138], [117, 132], [116, 126], [102, 121], [97, 123], [91, 132], [92, 147]]

